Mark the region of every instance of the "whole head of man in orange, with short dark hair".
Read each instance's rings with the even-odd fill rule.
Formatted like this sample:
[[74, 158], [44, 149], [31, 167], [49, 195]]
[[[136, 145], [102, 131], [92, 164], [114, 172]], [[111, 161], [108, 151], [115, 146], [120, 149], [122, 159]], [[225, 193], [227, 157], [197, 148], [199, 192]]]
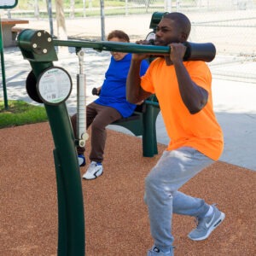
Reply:
[[155, 45], [183, 43], [189, 38], [191, 23], [186, 15], [167, 13], [156, 26]]

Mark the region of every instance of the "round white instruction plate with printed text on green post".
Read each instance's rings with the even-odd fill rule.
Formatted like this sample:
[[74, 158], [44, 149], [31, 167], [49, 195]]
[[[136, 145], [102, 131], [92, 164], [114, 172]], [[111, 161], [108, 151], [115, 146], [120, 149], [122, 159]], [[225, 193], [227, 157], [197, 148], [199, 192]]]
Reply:
[[70, 75], [61, 67], [49, 67], [37, 83], [38, 96], [45, 104], [58, 105], [65, 102], [72, 91]]

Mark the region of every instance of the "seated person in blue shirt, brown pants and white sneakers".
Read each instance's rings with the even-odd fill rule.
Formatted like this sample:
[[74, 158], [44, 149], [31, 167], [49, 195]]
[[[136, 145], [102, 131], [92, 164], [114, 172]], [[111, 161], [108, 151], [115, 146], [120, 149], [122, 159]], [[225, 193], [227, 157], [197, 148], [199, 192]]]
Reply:
[[[125, 32], [114, 30], [108, 34], [108, 41], [129, 43], [130, 38]], [[87, 129], [91, 126], [90, 135], [90, 166], [83, 178], [94, 179], [102, 175], [103, 154], [107, 138], [106, 126], [113, 121], [131, 116], [137, 105], [126, 101], [125, 84], [131, 64], [131, 54], [111, 52], [111, 60], [101, 87], [99, 98], [86, 107]], [[140, 75], [148, 69], [148, 62], [141, 64]], [[73, 131], [77, 131], [77, 114], [71, 118]], [[85, 166], [85, 148], [78, 147], [79, 166]]]

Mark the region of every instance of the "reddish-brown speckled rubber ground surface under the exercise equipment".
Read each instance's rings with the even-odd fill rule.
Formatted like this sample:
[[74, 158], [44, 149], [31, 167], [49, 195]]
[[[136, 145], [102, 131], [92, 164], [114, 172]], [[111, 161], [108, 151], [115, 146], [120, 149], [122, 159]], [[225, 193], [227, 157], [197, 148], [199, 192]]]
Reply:
[[[0, 255], [56, 255], [57, 195], [49, 124], [2, 129], [0, 141]], [[154, 158], [143, 158], [141, 143], [140, 138], [108, 130], [102, 177], [82, 181], [87, 256], [143, 256], [152, 246], [144, 177], [165, 146], [159, 145]], [[87, 147], [89, 152], [90, 143]], [[174, 215], [175, 255], [255, 255], [255, 172], [218, 161], [181, 190], [210, 204], [218, 202], [226, 218], [206, 241], [190, 241], [193, 218]]]

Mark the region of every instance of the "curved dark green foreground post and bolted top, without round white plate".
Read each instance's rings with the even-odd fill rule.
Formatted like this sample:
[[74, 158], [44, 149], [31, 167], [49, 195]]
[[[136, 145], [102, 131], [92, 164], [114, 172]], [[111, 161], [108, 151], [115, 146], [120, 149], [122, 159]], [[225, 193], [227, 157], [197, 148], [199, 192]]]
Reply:
[[[25, 30], [18, 45], [32, 66], [36, 79], [57, 60], [52, 39], [47, 32]], [[36, 84], [29, 84], [36, 86]], [[44, 104], [55, 143], [54, 158], [58, 193], [59, 256], [84, 256], [84, 203], [79, 163], [73, 130], [65, 102]]]

